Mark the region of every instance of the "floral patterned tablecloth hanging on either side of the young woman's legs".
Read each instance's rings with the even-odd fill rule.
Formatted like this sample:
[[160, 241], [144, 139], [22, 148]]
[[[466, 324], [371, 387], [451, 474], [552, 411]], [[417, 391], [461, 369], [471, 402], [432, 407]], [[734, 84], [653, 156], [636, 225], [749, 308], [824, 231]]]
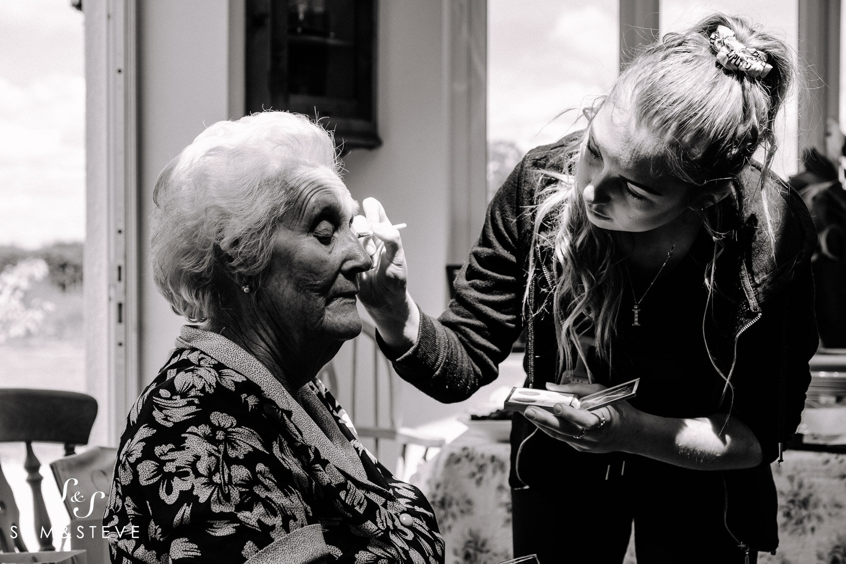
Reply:
[[[447, 564], [512, 557], [508, 452], [508, 443], [468, 431], [412, 477], [435, 508]], [[846, 564], [846, 454], [788, 451], [773, 473], [781, 545], [759, 563]], [[625, 563], [634, 561], [629, 546]]]

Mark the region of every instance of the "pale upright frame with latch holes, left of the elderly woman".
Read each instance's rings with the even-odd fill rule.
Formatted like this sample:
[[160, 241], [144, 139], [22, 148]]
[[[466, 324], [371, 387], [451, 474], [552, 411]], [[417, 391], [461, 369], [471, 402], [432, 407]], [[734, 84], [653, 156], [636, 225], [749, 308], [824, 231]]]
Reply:
[[135, 16], [135, 0], [85, 1], [85, 381], [109, 445], [140, 392]]

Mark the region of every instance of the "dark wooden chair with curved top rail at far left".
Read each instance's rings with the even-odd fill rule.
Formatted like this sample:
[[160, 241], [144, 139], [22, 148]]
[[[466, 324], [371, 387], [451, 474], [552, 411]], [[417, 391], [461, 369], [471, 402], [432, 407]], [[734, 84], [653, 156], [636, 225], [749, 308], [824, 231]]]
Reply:
[[[97, 414], [93, 397], [79, 392], [0, 388], [0, 442], [23, 442], [24, 468], [32, 490], [36, 536], [39, 550], [56, 550], [52, 545], [50, 517], [41, 495], [41, 462], [32, 450], [33, 442], [64, 445], [64, 454], [74, 454], [75, 446], [88, 443]], [[8, 481], [0, 468], [0, 551], [25, 551], [20, 534], [19, 512]], [[41, 534], [41, 530], [47, 534]], [[14, 537], [17, 538], [14, 538]]]

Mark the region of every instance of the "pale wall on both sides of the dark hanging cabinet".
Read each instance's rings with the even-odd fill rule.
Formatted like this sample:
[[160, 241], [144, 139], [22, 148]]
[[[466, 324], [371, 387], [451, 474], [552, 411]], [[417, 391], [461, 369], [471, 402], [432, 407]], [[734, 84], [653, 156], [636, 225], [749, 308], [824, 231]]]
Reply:
[[[357, 200], [374, 196], [394, 222], [406, 222], [404, 246], [409, 288], [433, 315], [446, 304], [450, 233], [448, 140], [448, 2], [379, 3], [378, 128], [383, 144], [345, 158], [345, 174]], [[240, 1], [145, 0], [139, 3], [140, 183], [140, 379], [156, 375], [183, 323], [151, 280], [147, 256], [152, 189], [162, 167], [203, 129], [237, 118], [243, 107], [243, 14]], [[482, 140], [484, 141], [484, 140]], [[339, 353], [339, 368], [349, 348]], [[339, 399], [349, 403], [343, 370]], [[345, 393], [346, 392], [346, 393]], [[402, 383], [396, 395], [409, 426], [455, 413]], [[358, 397], [360, 413], [374, 398]], [[355, 416], [355, 414], [354, 414]], [[368, 423], [363, 421], [363, 423]]]

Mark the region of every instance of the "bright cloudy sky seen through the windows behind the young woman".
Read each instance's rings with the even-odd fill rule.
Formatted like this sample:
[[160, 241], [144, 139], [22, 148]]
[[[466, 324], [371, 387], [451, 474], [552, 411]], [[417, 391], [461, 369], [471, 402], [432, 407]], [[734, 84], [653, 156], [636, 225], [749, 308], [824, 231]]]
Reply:
[[[661, 31], [713, 11], [744, 14], [797, 46], [798, 0], [662, 0]], [[488, 0], [488, 139], [521, 151], [558, 140], [576, 112], [617, 76], [618, 0]], [[773, 168], [796, 170], [796, 103], [783, 112], [783, 150]], [[792, 142], [791, 142], [792, 140]]]

